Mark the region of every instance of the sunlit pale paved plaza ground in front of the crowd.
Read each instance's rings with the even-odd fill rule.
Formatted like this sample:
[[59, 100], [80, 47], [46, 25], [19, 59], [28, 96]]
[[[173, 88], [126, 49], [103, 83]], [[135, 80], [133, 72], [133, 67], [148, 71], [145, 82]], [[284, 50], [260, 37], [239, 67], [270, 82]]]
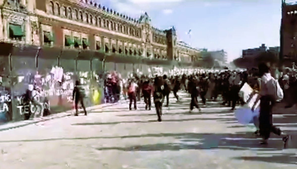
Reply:
[[[138, 103], [93, 109], [88, 116], [66, 116], [0, 132], [0, 168], [16, 169], [274, 169], [296, 168], [296, 148], [283, 150], [271, 135], [259, 145], [255, 128], [242, 126], [230, 107], [208, 102], [189, 113], [190, 98], [170, 97], [157, 122]], [[274, 123], [297, 135], [294, 112], [277, 112]]]

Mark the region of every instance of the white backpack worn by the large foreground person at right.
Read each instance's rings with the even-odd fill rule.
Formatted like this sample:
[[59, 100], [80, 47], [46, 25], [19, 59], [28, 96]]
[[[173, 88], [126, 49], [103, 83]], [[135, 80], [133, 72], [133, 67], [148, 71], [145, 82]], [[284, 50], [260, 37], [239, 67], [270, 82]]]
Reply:
[[274, 90], [268, 90], [268, 95], [273, 96], [273, 98], [276, 101], [280, 101], [284, 98], [284, 92], [282, 88], [279, 85], [279, 82], [271, 77], [271, 79], [267, 82], [267, 88], [268, 89], [274, 89]]

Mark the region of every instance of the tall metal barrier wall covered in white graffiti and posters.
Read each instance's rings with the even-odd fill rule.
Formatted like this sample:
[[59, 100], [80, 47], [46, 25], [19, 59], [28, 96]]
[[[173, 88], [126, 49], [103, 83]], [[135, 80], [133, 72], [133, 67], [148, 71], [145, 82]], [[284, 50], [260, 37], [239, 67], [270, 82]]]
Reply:
[[[34, 83], [41, 88], [41, 96], [38, 99], [44, 105], [47, 115], [73, 108], [70, 98], [75, 80], [83, 83], [87, 94], [86, 106], [92, 106], [100, 104], [92, 101], [94, 90], [99, 90], [98, 83], [94, 79], [100, 73], [118, 71], [125, 77], [127, 73], [139, 70], [147, 74], [149, 65], [162, 63], [168, 70], [173, 68], [165, 61], [141, 60], [135, 56], [105, 54], [102, 51], [20, 47], [9, 43], [0, 43], [0, 48], [3, 49], [0, 51], [0, 76], [3, 82], [3, 87], [0, 89], [0, 122], [1, 119], [23, 120], [26, 118], [24, 114], [29, 111], [34, 112], [32, 107], [28, 107], [23, 101], [26, 89]], [[52, 77], [53, 74], [56, 76], [53, 73], [56, 70], [55, 66], [63, 68], [63, 78], [60, 80]]]

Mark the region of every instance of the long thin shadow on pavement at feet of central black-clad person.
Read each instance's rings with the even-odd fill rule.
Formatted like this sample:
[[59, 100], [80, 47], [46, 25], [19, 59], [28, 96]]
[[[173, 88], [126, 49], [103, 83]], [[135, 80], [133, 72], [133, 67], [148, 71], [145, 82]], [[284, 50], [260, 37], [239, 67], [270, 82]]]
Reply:
[[[157, 117], [157, 115], [156, 115]], [[217, 120], [217, 121], [233, 121], [234, 118], [188, 118], [188, 119], [168, 119], [162, 120], [162, 122], [180, 122], [180, 121], [195, 121], [195, 120]], [[120, 123], [151, 123], [158, 122], [157, 120], [148, 120], [148, 121], [115, 121], [115, 122], [106, 122], [106, 123], [74, 123], [73, 126], [79, 125], [110, 125], [110, 124], [120, 124]], [[160, 123], [160, 122], [158, 122]]]

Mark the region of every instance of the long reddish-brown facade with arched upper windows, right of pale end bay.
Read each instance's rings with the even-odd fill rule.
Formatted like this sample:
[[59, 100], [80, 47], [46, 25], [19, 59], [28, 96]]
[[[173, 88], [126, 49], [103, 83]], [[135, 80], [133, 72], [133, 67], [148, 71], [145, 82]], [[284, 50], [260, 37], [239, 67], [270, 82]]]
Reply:
[[[91, 0], [35, 1], [40, 45], [103, 50], [157, 59], [188, 60], [179, 55], [175, 29], [151, 26], [148, 14], [130, 18]], [[196, 51], [198, 52], [198, 51]], [[178, 56], [183, 56], [180, 58]]]

